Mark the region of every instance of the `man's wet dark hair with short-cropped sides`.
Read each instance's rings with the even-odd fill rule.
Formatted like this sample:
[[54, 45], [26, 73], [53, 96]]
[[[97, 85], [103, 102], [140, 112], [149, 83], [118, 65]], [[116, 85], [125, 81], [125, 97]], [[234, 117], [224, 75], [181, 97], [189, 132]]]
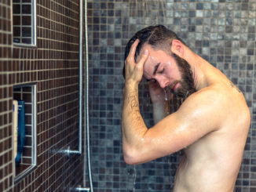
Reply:
[[[170, 31], [163, 25], [155, 25], [155, 26], [149, 26], [144, 29], [141, 29], [141, 31], [137, 31], [136, 34], [133, 35], [132, 38], [130, 38], [130, 41], [126, 45], [126, 51], [124, 56], [124, 61], [126, 60], [127, 56], [130, 53], [130, 48], [133, 45], [133, 42], [136, 41], [136, 39], [139, 39], [140, 42], [137, 45], [137, 49], [135, 52], [135, 60], [137, 60], [137, 56], [141, 53], [141, 48], [145, 43], [148, 45], [152, 45], [153, 49], [161, 49], [161, 50], [168, 50], [170, 51], [171, 43], [174, 39], [177, 39], [183, 42], [181, 38], [177, 36], [177, 34], [174, 33], [174, 31]], [[123, 78], [125, 78], [125, 65], [123, 66]]]

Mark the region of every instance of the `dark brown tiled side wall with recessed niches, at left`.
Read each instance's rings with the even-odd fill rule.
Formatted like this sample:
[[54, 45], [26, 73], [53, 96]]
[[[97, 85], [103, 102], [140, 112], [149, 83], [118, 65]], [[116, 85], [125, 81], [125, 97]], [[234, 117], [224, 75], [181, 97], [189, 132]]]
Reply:
[[[13, 45], [12, 8], [0, 0], [0, 191], [70, 191], [82, 184], [78, 149], [79, 0], [37, 0], [37, 47]], [[14, 184], [13, 86], [37, 86], [37, 167]]]

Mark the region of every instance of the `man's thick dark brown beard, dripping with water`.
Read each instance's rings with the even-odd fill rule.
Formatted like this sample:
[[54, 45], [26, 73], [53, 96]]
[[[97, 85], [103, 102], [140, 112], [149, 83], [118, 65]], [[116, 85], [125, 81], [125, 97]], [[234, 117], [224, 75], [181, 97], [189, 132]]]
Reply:
[[[171, 53], [171, 56], [174, 57], [178, 69], [181, 72], [181, 81], [175, 81], [166, 87], [167, 92], [172, 92], [174, 94], [172, 99], [173, 102], [168, 102], [168, 107], [166, 108], [169, 113], [176, 111], [188, 96], [196, 92], [192, 70], [188, 62], [180, 56], [177, 56], [175, 53]], [[174, 85], [177, 83], [179, 83], [179, 86], [174, 90]]]

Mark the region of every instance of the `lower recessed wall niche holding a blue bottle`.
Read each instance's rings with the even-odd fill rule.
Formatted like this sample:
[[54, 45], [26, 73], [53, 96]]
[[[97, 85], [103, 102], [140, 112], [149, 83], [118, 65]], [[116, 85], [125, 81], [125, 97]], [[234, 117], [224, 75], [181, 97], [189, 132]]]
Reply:
[[[17, 183], [36, 167], [36, 85], [15, 85], [13, 87], [13, 100], [24, 101], [24, 147], [20, 156], [20, 163], [13, 163], [15, 180]], [[20, 106], [19, 106], [20, 107]], [[14, 119], [14, 118], [13, 118]], [[14, 121], [14, 120], [13, 120]], [[13, 123], [15, 125], [15, 123]], [[13, 148], [16, 150], [17, 132], [13, 127]], [[16, 152], [13, 150], [13, 161]], [[15, 157], [14, 157], [15, 156]]]

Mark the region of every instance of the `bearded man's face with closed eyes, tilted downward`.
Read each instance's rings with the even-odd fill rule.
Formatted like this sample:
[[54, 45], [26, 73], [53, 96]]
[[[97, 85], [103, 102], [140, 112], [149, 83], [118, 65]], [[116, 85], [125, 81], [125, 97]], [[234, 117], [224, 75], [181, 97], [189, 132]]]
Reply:
[[150, 45], [148, 60], [144, 63], [144, 78], [155, 80], [159, 86], [168, 92], [182, 98], [196, 92], [190, 65], [174, 53], [168, 54], [163, 50], [154, 50]]

